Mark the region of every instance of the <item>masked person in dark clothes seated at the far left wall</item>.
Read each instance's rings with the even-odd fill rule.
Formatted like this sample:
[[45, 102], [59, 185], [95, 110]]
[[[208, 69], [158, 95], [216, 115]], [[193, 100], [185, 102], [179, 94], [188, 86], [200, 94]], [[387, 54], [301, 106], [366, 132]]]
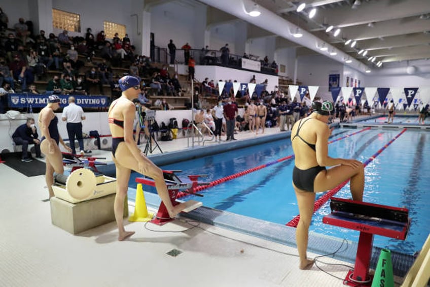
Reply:
[[40, 140], [38, 139], [38, 131], [34, 125], [34, 118], [27, 118], [26, 123], [17, 127], [12, 135], [12, 140], [15, 145], [22, 145], [21, 162], [31, 162], [31, 157], [28, 155], [28, 145], [34, 144], [36, 158], [43, 158], [40, 150]]

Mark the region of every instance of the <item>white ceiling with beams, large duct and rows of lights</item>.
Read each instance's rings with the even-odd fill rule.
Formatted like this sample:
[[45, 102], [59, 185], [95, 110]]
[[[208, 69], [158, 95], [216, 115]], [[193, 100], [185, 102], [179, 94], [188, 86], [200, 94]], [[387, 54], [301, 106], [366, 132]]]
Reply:
[[[189, 0], [182, 0], [189, 1]], [[199, 0], [209, 6], [208, 24], [242, 19], [249, 23], [248, 38], [277, 36], [276, 48], [297, 47], [297, 54], [321, 53], [320, 44], [338, 51], [332, 58], [353, 61], [348, 66], [358, 70], [376, 69], [378, 61], [391, 63], [430, 58], [430, 0]], [[302, 12], [296, 12], [300, 3], [306, 3]], [[260, 6], [260, 17], [244, 15], [254, 3]], [[241, 9], [240, 9], [241, 8]], [[317, 9], [313, 19], [308, 13]], [[220, 11], [222, 10], [222, 11]], [[226, 15], [227, 14], [227, 15]], [[284, 23], [281, 23], [284, 20]], [[288, 33], [281, 30], [290, 29]], [[334, 28], [326, 33], [327, 26]], [[292, 27], [299, 26], [304, 37], [291, 37]], [[341, 32], [334, 37], [334, 31]], [[355, 40], [355, 47], [345, 45]], [[352, 42], [352, 41], [351, 41]], [[312, 43], [312, 44], [310, 44]], [[360, 50], [367, 55], [359, 55]], [[374, 62], [368, 59], [374, 56]]]

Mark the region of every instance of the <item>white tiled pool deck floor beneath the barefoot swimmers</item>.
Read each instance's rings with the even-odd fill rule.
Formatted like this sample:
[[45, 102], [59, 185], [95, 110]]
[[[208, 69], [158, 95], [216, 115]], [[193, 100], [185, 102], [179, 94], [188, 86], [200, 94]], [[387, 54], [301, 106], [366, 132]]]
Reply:
[[[279, 133], [276, 128], [266, 129], [264, 136]], [[263, 137], [249, 132], [235, 136], [237, 142]], [[184, 138], [159, 144], [165, 153], [188, 149]], [[108, 162], [112, 159], [111, 152], [94, 150], [92, 155], [105, 156]], [[299, 270], [294, 246], [209, 221], [189, 222], [197, 210], [164, 226], [125, 221], [126, 229], [136, 233], [124, 242], [117, 241], [115, 222], [74, 236], [51, 224], [49, 202], [44, 201], [48, 195], [44, 176], [26, 177], [0, 164], [0, 182], [0, 286], [342, 286], [349, 268], [325, 263], [353, 266], [326, 257], [319, 259], [318, 266], [338, 278], [315, 265]], [[148, 201], [153, 209], [155, 202]], [[133, 206], [129, 208], [131, 214]], [[199, 212], [206, 211], [201, 208]], [[247, 230], [270, 226], [269, 222], [257, 225], [242, 219]], [[285, 233], [285, 237], [294, 242], [294, 233]], [[320, 238], [311, 235], [310, 245], [318, 244]], [[331, 253], [341, 244], [339, 239], [325, 245], [325, 250]], [[166, 254], [173, 249], [182, 253], [176, 257]], [[308, 253], [311, 258], [318, 255]], [[395, 277], [395, 281], [402, 278]]]

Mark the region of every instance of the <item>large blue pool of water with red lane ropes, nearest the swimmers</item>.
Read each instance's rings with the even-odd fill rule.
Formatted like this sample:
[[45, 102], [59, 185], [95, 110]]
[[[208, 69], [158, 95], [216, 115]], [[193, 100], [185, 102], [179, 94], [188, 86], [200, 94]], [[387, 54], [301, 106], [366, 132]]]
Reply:
[[[357, 132], [354, 129], [336, 129], [332, 139]], [[329, 146], [333, 157], [356, 158], [365, 162], [386, 145], [400, 130], [367, 130], [355, 136], [336, 141]], [[430, 179], [430, 134], [407, 131], [388, 146], [365, 169], [366, 187], [364, 200], [378, 204], [409, 208], [411, 230], [406, 241], [375, 236], [374, 245], [402, 253], [412, 254], [420, 249], [426, 236], [430, 219], [426, 215], [430, 193], [426, 190]], [[270, 163], [293, 153], [289, 140], [205, 156], [195, 160], [163, 166], [166, 170], [183, 170], [182, 177], [190, 174], [207, 174], [205, 181], [213, 181], [243, 170]], [[205, 189], [203, 202], [206, 207], [230, 211], [277, 224], [286, 224], [298, 214], [297, 201], [291, 185], [293, 160], [286, 160], [236, 179]], [[130, 187], [135, 187], [132, 174]], [[145, 190], [155, 192], [148, 187]], [[132, 191], [133, 193], [134, 191]], [[318, 194], [317, 198], [324, 194]], [[341, 188], [336, 197], [350, 198], [349, 185]], [[135, 195], [129, 192], [129, 199]], [[192, 196], [190, 199], [194, 199]], [[322, 216], [330, 213], [329, 203], [323, 205], [312, 220], [310, 231], [346, 238], [357, 242], [359, 233], [322, 224]]]

